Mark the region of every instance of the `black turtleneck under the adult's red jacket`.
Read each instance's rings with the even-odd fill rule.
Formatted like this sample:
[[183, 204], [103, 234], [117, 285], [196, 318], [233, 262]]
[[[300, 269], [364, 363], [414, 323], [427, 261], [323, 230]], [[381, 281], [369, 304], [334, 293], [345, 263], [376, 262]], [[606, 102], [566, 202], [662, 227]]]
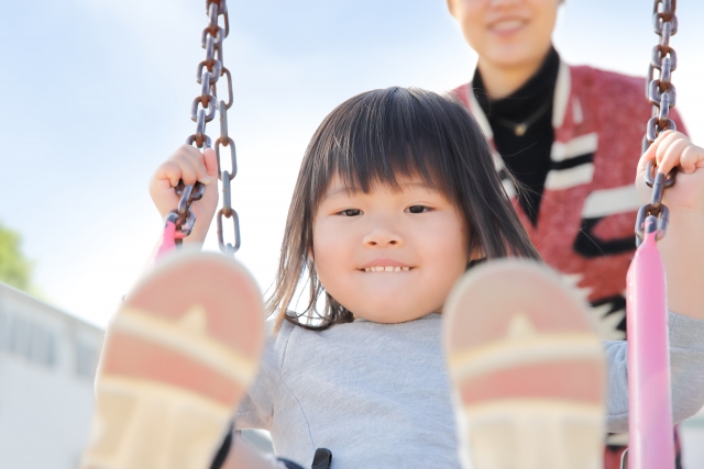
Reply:
[[[486, 93], [479, 68], [472, 79], [474, 96], [492, 126], [496, 150], [516, 179], [528, 189], [519, 200], [534, 225], [538, 221], [550, 167], [550, 149], [554, 139], [552, 99], [559, 68], [560, 56], [551, 48], [536, 75], [508, 97], [495, 100]], [[539, 116], [526, 133], [516, 135], [510, 123], [519, 124], [536, 114]]]

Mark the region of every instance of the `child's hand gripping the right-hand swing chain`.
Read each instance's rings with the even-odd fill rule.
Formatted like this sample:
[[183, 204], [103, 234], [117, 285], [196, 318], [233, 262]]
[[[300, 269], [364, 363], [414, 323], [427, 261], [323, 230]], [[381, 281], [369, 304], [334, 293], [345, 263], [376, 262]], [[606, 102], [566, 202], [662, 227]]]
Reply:
[[663, 202], [671, 213], [698, 216], [704, 220], [704, 148], [694, 145], [684, 134], [666, 131], [650, 145], [638, 163], [636, 186], [644, 203], [649, 203], [652, 189], [646, 185], [648, 161], [656, 160], [658, 172], [678, 168], [676, 182], [664, 190]]

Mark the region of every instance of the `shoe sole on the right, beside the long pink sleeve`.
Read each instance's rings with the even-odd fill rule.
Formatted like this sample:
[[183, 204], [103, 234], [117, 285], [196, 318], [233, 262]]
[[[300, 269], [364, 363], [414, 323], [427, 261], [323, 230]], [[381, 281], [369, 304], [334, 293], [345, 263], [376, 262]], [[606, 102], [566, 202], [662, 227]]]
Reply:
[[443, 342], [464, 468], [602, 467], [604, 356], [586, 314], [535, 261], [492, 261], [458, 282]]

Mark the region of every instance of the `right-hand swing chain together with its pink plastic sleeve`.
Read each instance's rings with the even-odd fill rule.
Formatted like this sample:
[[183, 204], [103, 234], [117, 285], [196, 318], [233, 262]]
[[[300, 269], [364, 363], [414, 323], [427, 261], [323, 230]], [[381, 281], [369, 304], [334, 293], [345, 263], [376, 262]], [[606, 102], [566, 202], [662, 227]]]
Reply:
[[[676, 102], [671, 74], [678, 56], [670, 38], [678, 32], [676, 0], [654, 0], [652, 24], [660, 42], [652, 49], [646, 97], [652, 103], [644, 153], [661, 132], [676, 130], [670, 109]], [[654, 70], [659, 77], [654, 77]], [[669, 175], [648, 164], [646, 181], [652, 200], [638, 211], [636, 255], [628, 270], [628, 388], [630, 443], [629, 469], [674, 468], [668, 302], [664, 267], [656, 242], [668, 230], [669, 211], [662, 203], [664, 189], [675, 182], [676, 168]], [[626, 460], [622, 462], [625, 466]]]

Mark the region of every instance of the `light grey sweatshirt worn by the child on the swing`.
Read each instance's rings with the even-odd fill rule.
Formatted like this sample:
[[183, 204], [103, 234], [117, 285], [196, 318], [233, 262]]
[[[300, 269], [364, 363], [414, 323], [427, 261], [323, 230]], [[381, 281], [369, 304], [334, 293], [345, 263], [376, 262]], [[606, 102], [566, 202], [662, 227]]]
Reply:
[[[440, 315], [402, 324], [358, 320], [312, 332], [284, 323], [234, 415], [272, 433], [278, 456], [331, 469], [460, 468]], [[675, 422], [704, 405], [704, 321], [670, 313]], [[605, 343], [607, 429], [628, 426], [627, 343]]]

